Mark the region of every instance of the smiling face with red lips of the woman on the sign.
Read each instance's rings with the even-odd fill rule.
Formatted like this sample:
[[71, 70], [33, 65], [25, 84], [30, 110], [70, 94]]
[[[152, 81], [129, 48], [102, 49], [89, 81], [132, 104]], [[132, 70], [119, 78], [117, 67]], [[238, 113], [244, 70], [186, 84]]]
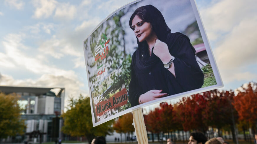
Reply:
[[153, 36], [152, 24], [142, 21], [137, 15], [132, 20], [132, 28], [139, 42], [148, 40]]

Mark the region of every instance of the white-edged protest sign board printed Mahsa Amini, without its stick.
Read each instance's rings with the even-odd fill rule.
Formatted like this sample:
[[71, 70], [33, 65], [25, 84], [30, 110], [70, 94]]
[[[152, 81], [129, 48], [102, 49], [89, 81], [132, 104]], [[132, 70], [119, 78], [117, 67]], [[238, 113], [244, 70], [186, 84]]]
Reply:
[[83, 45], [93, 126], [223, 86], [193, 0], [134, 1], [104, 19]]

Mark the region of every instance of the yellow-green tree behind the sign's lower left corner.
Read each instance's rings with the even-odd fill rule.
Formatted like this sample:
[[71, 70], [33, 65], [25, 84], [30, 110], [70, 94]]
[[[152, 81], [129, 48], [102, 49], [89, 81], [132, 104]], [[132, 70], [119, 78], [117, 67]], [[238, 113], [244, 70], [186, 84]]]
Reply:
[[112, 134], [113, 120], [93, 127], [89, 97], [80, 96], [78, 100], [70, 100], [70, 103], [72, 103], [71, 108], [61, 115], [64, 119], [63, 133], [71, 136], [86, 136], [89, 143], [95, 136]]

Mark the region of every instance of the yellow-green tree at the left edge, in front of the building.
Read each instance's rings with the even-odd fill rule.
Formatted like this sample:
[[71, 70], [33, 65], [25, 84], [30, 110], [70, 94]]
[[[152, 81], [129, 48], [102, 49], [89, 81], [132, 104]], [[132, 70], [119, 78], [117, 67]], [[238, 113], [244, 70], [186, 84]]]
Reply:
[[15, 93], [9, 95], [0, 93], [0, 139], [22, 135], [26, 128], [20, 116], [18, 100], [19, 96]]

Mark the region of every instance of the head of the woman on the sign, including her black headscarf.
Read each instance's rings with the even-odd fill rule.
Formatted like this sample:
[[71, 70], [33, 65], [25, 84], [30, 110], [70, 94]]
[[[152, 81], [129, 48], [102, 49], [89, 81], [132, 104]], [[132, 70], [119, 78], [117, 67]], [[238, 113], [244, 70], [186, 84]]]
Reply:
[[129, 26], [134, 30], [138, 44], [153, 35], [165, 42], [170, 33], [162, 13], [152, 5], [137, 8], [130, 17]]

